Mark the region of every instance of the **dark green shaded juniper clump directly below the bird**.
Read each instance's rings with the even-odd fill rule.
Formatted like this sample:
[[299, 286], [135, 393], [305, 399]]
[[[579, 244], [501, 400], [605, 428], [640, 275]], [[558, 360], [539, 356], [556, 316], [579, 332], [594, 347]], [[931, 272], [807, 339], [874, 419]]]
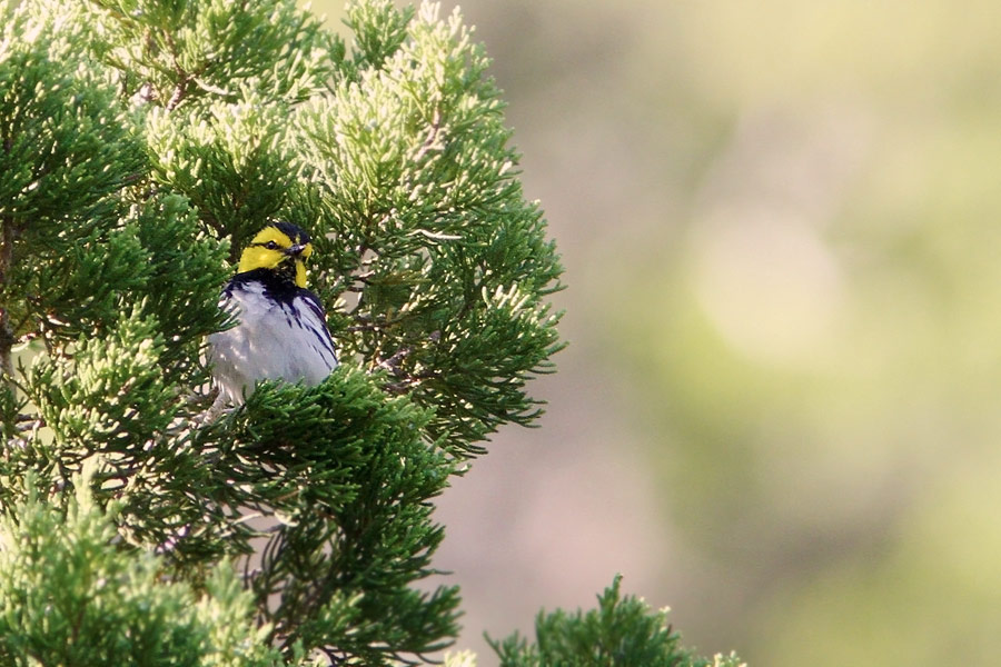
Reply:
[[434, 574], [443, 532], [428, 500], [454, 469], [423, 440], [428, 419], [341, 366], [317, 388], [261, 386], [245, 410], [194, 435], [215, 460], [217, 499], [276, 521], [249, 584], [283, 646], [336, 647], [330, 655], [374, 665], [387, 650], [442, 648], [457, 631], [456, 588], [408, 587]]

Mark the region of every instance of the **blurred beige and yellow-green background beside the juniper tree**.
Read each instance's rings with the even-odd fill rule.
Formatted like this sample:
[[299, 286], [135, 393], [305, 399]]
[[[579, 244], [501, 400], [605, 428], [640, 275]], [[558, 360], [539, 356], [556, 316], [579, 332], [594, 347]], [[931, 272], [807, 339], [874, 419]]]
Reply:
[[462, 10], [572, 346], [442, 498], [457, 648], [621, 571], [752, 667], [997, 665], [997, 3]]

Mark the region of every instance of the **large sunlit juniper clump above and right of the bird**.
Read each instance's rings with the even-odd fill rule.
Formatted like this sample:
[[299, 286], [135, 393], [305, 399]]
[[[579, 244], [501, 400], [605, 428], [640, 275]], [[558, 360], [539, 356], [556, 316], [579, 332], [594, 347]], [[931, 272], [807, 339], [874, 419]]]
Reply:
[[561, 348], [544, 298], [562, 268], [514, 178], [482, 48], [457, 14], [409, 16], [351, 7], [359, 71], [298, 117], [304, 176], [335, 235], [320, 261], [340, 277], [320, 290], [360, 295], [345, 349], [436, 407], [433, 437], [479, 452], [502, 424], [538, 414], [524, 384]]

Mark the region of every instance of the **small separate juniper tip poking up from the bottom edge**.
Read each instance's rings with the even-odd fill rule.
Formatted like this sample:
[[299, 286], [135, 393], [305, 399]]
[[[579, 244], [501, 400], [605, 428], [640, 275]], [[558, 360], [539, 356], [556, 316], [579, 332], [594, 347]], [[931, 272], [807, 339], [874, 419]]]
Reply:
[[517, 633], [490, 640], [500, 667], [741, 667], [734, 656], [700, 658], [678, 646], [667, 625], [667, 610], [653, 611], [642, 599], [622, 597], [616, 576], [598, 596], [597, 609], [576, 614], [539, 613], [536, 643]]

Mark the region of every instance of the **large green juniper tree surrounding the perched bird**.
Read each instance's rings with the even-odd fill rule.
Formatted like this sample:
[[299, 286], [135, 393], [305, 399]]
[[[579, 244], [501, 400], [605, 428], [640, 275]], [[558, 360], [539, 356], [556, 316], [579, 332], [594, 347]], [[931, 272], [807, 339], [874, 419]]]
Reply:
[[[433, 499], [562, 347], [562, 268], [458, 14], [0, 0], [0, 660], [420, 661]], [[314, 237], [341, 365], [215, 420], [248, 238]], [[86, 471], [86, 474], [85, 474]]]

